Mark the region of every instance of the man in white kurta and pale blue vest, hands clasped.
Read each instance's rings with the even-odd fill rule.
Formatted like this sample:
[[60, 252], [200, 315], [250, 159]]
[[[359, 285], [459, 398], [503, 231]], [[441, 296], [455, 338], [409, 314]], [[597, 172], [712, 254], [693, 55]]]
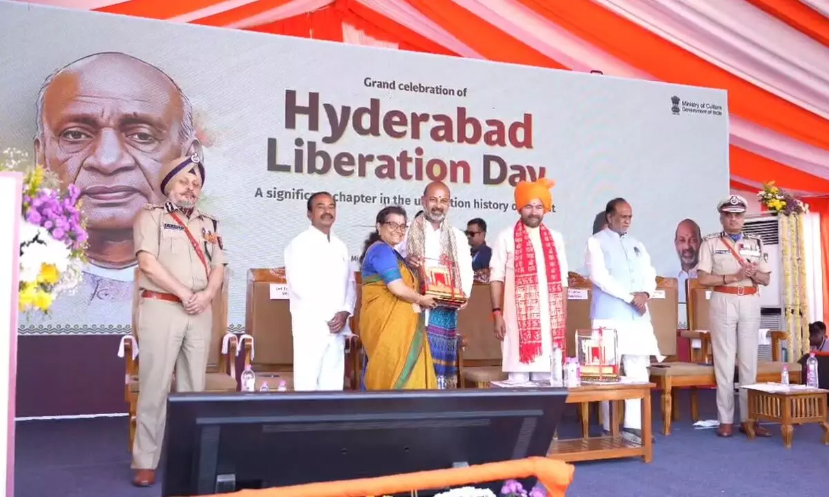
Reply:
[[[608, 227], [587, 240], [584, 264], [593, 282], [593, 329], [616, 330], [624, 376], [647, 382], [651, 356], [659, 354], [647, 301], [657, 289], [657, 273], [645, 246], [628, 234], [633, 210], [627, 201], [608, 202]], [[610, 430], [609, 405], [602, 403], [604, 429]], [[626, 400], [625, 431], [641, 437], [642, 401]]]

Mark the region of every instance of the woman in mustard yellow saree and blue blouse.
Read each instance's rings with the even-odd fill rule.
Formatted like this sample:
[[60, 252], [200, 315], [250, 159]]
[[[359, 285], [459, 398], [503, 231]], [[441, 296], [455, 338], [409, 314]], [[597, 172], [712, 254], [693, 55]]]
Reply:
[[377, 214], [362, 263], [360, 340], [366, 357], [362, 386], [368, 390], [438, 388], [421, 309], [434, 299], [420, 295], [418, 280], [392, 247], [406, 232], [406, 212], [389, 206]]

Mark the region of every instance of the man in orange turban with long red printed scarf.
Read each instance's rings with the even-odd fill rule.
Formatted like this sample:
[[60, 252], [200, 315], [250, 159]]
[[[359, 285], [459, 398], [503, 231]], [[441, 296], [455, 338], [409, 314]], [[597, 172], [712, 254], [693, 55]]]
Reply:
[[502, 369], [515, 382], [549, 379], [554, 345], [565, 349], [565, 244], [560, 233], [542, 222], [553, 207], [553, 185], [546, 178], [518, 183], [521, 219], [498, 234], [489, 263]]

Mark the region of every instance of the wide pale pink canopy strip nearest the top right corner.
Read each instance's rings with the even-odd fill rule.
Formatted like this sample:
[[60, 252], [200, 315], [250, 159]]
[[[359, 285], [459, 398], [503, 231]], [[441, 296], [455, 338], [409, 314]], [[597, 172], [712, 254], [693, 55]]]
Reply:
[[743, 0], [593, 0], [676, 46], [829, 118], [829, 48]]

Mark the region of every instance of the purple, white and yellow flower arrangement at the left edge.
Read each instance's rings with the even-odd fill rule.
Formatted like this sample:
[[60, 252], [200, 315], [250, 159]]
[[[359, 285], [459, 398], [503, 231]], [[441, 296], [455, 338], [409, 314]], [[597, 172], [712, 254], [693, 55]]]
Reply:
[[0, 153], [0, 171], [24, 173], [20, 225], [20, 286], [22, 312], [48, 312], [59, 295], [81, 280], [86, 261], [85, 218], [80, 190], [61, 183], [43, 166], [32, 166], [28, 154], [14, 148]]

